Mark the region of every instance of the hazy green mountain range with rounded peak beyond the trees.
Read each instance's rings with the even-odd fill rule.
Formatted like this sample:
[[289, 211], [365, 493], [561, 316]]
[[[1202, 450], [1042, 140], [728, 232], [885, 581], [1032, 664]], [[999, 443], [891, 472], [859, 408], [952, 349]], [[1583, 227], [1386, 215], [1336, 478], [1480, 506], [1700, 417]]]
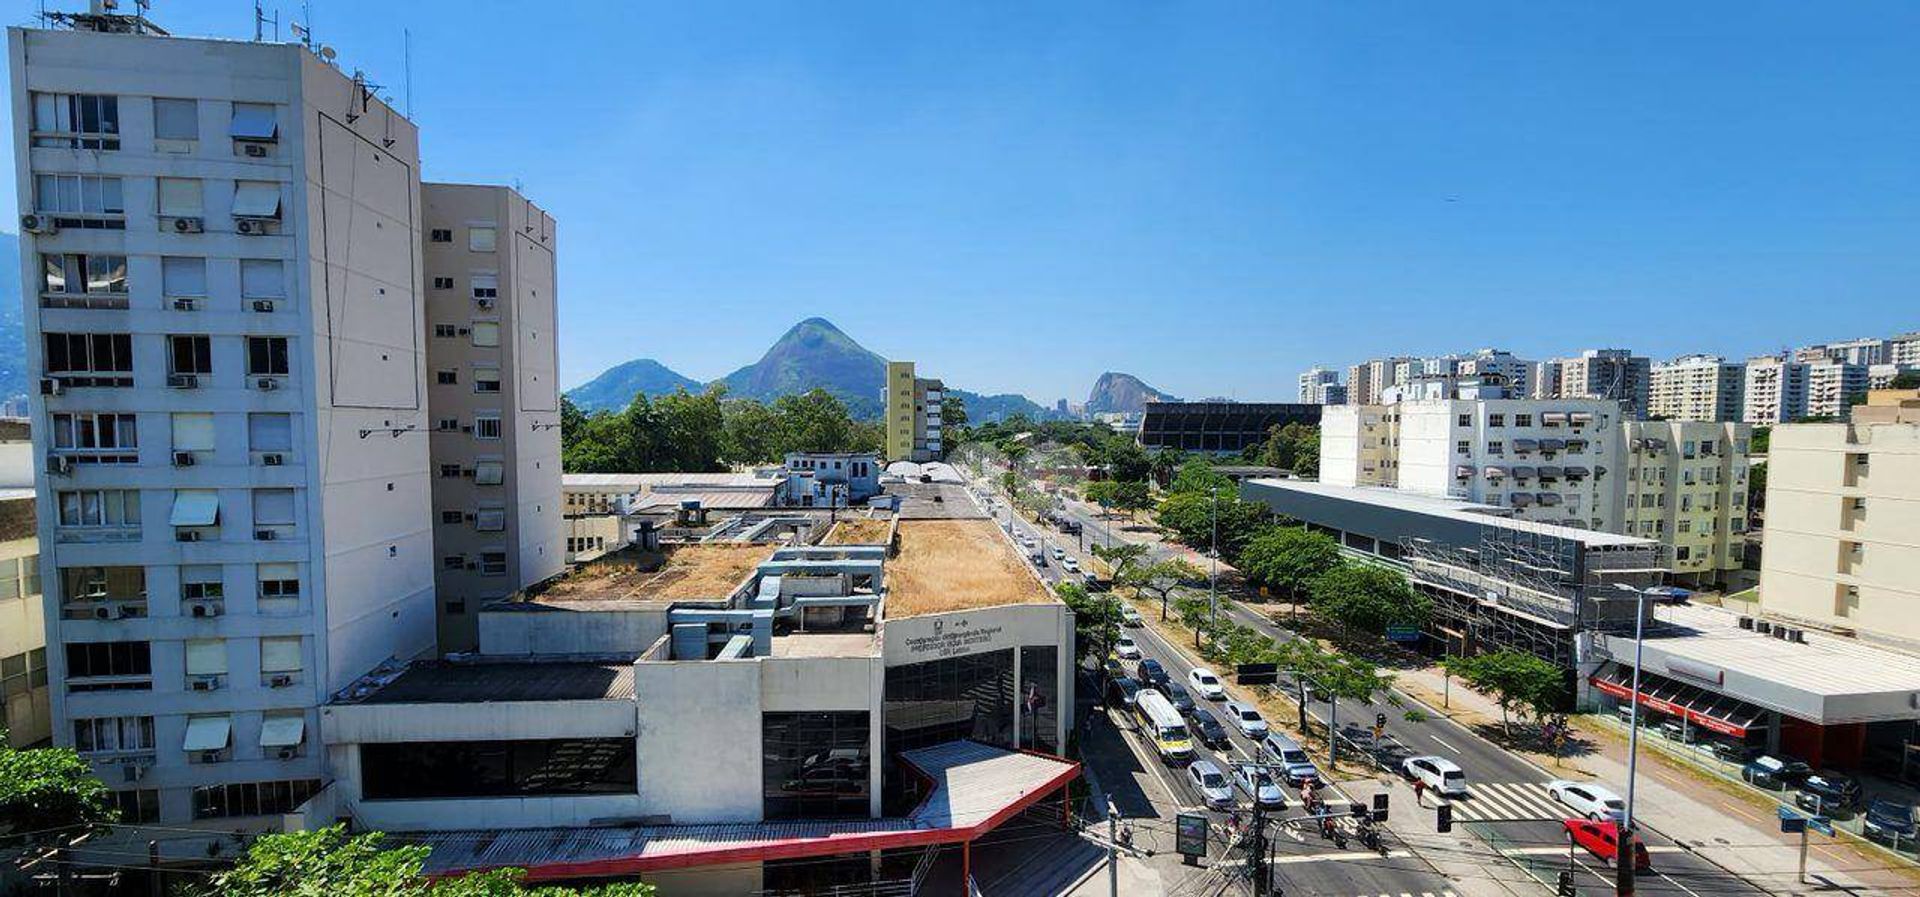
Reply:
[[[774, 401], [822, 388], [847, 403], [860, 419], [883, 413], [879, 396], [887, 382], [887, 359], [860, 346], [824, 317], [808, 317], [793, 325], [758, 361], [733, 371], [720, 380], [728, 396]], [[707, 384], [684, 376], [653, 359], [634, 359], [603, 371], [599, 376], [566, 392], [582, 411], [616, 411], [634, 401], [636, 394], [649, 398]], [[966, 401], [972, 423], [1000, 421], [1027, 415], [1035, 421], [1058, 417], [1052, 409], [1018, 394], [981, 396], [948, 384], [947, 392]]]

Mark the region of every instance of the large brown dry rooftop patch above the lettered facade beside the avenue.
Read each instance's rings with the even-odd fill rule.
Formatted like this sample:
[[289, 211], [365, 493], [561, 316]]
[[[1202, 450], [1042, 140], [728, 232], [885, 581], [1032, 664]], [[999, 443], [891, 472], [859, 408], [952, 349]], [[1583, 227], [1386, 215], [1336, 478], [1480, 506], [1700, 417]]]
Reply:
[[1054, 601], [993, 521], [900, 521], [887, 617]]

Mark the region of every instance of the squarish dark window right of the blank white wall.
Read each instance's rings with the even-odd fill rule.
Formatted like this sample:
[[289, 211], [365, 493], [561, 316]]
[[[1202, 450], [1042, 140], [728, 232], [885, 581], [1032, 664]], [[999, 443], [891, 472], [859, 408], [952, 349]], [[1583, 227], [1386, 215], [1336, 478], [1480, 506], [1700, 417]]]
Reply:
[[760, 716], [766, 818], [864, 818], [872, 722], [866, 711]]

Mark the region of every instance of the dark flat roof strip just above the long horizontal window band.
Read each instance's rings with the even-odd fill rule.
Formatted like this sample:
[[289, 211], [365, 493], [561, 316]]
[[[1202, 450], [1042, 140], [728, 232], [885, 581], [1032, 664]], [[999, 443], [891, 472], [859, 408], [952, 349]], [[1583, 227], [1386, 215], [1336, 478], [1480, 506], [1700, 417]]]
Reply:
[[632, 701], [634, 665], [612, 661], [422, 661], [336, 703]]

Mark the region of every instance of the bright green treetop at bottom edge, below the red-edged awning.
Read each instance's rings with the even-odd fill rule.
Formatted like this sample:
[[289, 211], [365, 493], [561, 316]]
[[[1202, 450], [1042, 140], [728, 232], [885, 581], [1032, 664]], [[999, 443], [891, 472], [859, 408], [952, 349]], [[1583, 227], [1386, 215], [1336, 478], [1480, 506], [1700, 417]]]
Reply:
[[386, 836], [344, 826], [261, 836], [234, 868], [194, 897], [651, 897], [649, 884], [528, 887], [524, 870], [497, 868], [432, 880], [422, 845], [386, 847]]

